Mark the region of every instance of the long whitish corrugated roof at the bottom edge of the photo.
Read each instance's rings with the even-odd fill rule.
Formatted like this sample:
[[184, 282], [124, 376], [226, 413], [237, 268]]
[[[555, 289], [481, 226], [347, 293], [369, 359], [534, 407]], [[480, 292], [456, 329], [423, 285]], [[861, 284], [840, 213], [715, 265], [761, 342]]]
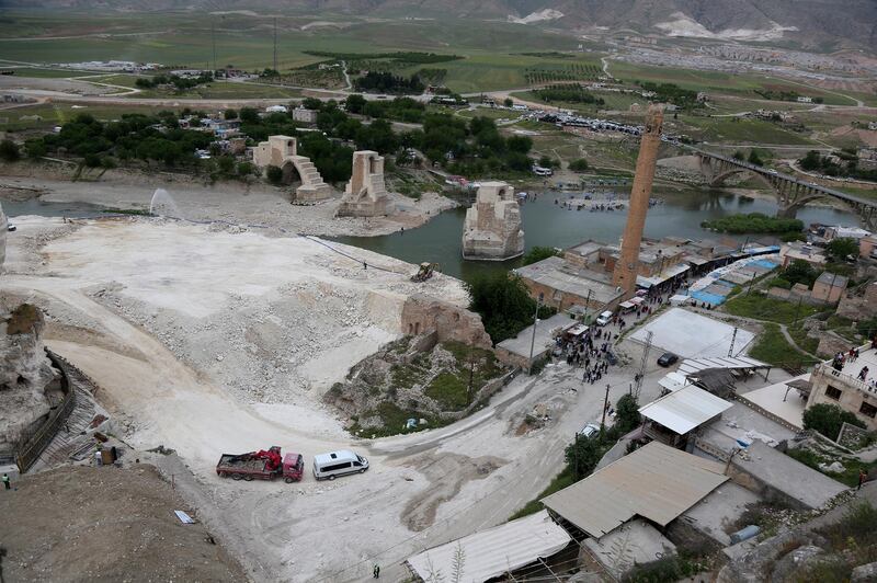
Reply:
[[550, 557], [562, 550], [570, 540], [567, 531], [548, 516], [548, 512], [542, 511], [424, 550], [409, 557], [406, 562], [424, 581], [432, 581], [440, 572], [451, 576], [454, 557], [457, 549], [462, 549], [465, 561], [460, 581], [480, 583], [539, 558]]

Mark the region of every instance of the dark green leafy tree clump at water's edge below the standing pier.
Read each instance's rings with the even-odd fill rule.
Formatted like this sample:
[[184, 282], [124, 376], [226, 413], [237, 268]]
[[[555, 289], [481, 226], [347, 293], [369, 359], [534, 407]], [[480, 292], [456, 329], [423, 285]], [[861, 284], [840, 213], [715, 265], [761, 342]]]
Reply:
[[[529, 297], [520, 276], [506, 272], [482, 274], [468, 284], [469, 309], [481, 316], [485, 330], [494, 342], [514, 338], [533, 323], [536, 300]], [[542, 306], [539, 318], [548, 318], [554, 308]]]

